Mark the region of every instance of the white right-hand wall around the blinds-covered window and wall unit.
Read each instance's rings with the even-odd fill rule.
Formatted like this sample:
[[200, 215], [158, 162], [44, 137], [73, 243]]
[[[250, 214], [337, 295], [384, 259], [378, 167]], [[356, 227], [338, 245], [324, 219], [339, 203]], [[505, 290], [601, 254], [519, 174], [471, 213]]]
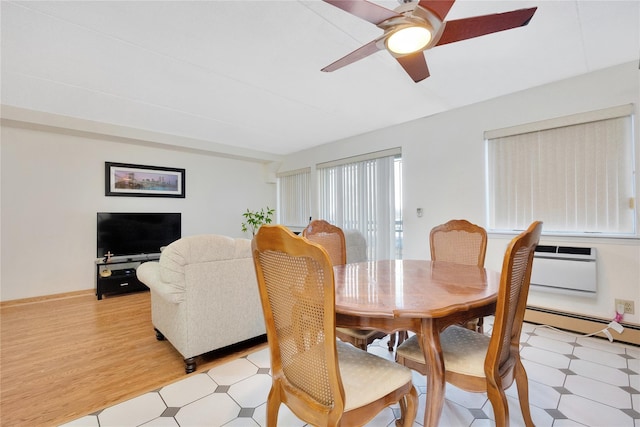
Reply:
[[[280, 170], [313, 167], [336, 157], [400, 146], [404, 172], [404, 257], [427, 258], [428, 235], [433, 226], [452, 218], [486, 225], [484, 131], [629, 103], [636, 104], [638, 113], [639, 76], [638, 62], [634, 61], [296, 153], [285, 159]], [[638, 169], [638, 114], [635, 124]], [[636, 186], [640, 188], [640, 177], [636, 178]], [[416, 216], [417, 208], [423, 208], [423, 217]], [[316, 212], [313, 214], [316, 216]], [[501, 268], [504, 250], [512, 237], [490, 236], [488, 268]], [[636, 307], [640, 307], [640, 240], [543, 236], [541, 242], [596, 246], [599, 288], [595, 298], [532, 290], [530, 305], [602, 318], [613, 317], [614, 298], [634, 300]], [[640, 308], [636, 308], [635, 315], [625, 316], [625, 321], [632, 323], [640, 323], [639, 319]]]

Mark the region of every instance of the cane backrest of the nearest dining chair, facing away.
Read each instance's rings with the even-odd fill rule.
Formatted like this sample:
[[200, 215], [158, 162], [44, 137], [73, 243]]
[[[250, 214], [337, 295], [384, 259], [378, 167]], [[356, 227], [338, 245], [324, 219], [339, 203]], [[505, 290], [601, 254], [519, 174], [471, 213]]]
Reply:
[[307, 423], [330, 424], [343, 412], [344, 389], [329, 256], [280, 225], [260, 227], [252, 252], [276, 392]]

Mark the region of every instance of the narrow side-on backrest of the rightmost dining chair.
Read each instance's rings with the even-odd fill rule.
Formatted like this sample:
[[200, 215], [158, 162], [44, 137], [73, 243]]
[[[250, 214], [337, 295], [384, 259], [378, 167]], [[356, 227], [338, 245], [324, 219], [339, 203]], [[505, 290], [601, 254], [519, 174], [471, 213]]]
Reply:
[[487, 377], [511, 370], [520, 351], [520, 333], [529, 295], [531, 267], [542, 222], [535, 221], [511, 240], [504, 255], [491, 341], [485, 359]]

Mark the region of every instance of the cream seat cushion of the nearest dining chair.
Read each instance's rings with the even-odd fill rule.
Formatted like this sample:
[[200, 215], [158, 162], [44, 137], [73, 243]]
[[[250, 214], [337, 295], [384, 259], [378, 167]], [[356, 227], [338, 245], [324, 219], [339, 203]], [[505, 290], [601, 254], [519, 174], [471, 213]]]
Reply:
[[411, 370], [350, 344], [336, 341], [345, 411], [371, 403], [411, 382]]

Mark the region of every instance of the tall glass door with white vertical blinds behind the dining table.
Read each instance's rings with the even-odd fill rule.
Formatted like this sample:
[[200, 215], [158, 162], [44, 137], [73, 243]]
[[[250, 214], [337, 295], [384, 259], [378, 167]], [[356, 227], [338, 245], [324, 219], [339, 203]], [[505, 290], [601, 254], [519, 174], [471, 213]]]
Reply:
[[400, 149], [318, 165], [319, 218], [367, 239], [368, 259], [402, 257]]

